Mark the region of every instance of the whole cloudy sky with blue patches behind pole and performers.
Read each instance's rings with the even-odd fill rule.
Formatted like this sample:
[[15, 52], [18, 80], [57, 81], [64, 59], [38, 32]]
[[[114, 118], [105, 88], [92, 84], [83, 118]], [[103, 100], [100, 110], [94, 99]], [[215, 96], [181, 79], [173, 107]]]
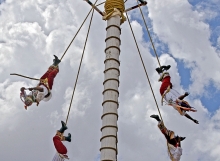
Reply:
[[[94, 2], [94, 1], [92, 1]], [[102, 2], [102, 1], [98, 1]], [[136, 5], [128, 0], [126, 8]], [[89, 21], [59, 65], [49, 102], [26, 111], [20, 88], [38, 83], [10, 73], [39, 78], [61, 57], [90, 6], [81, 0], [0, 0], [0, 155], [5, 161], [50, 161], [52, 137], [66, 119]], [[104, 6], [99, 6], [104, 10]], [[186, 137], [182, 161], [220, 160], [220, 0], [149, 0], [142, 7], [162, 65], [174, 88], [190, 92], [199, 125], [160, 105], [158, 67], [139, 9], [129, 17], [167, 128]], [[65, 142], [70, 161], [100, 158], [106, 21], [95, 12], [68, 120]], [[169, 160], [166, 140], [150, 118], [158, 114], [128, 25], [121, 25], [118, 160]]]

